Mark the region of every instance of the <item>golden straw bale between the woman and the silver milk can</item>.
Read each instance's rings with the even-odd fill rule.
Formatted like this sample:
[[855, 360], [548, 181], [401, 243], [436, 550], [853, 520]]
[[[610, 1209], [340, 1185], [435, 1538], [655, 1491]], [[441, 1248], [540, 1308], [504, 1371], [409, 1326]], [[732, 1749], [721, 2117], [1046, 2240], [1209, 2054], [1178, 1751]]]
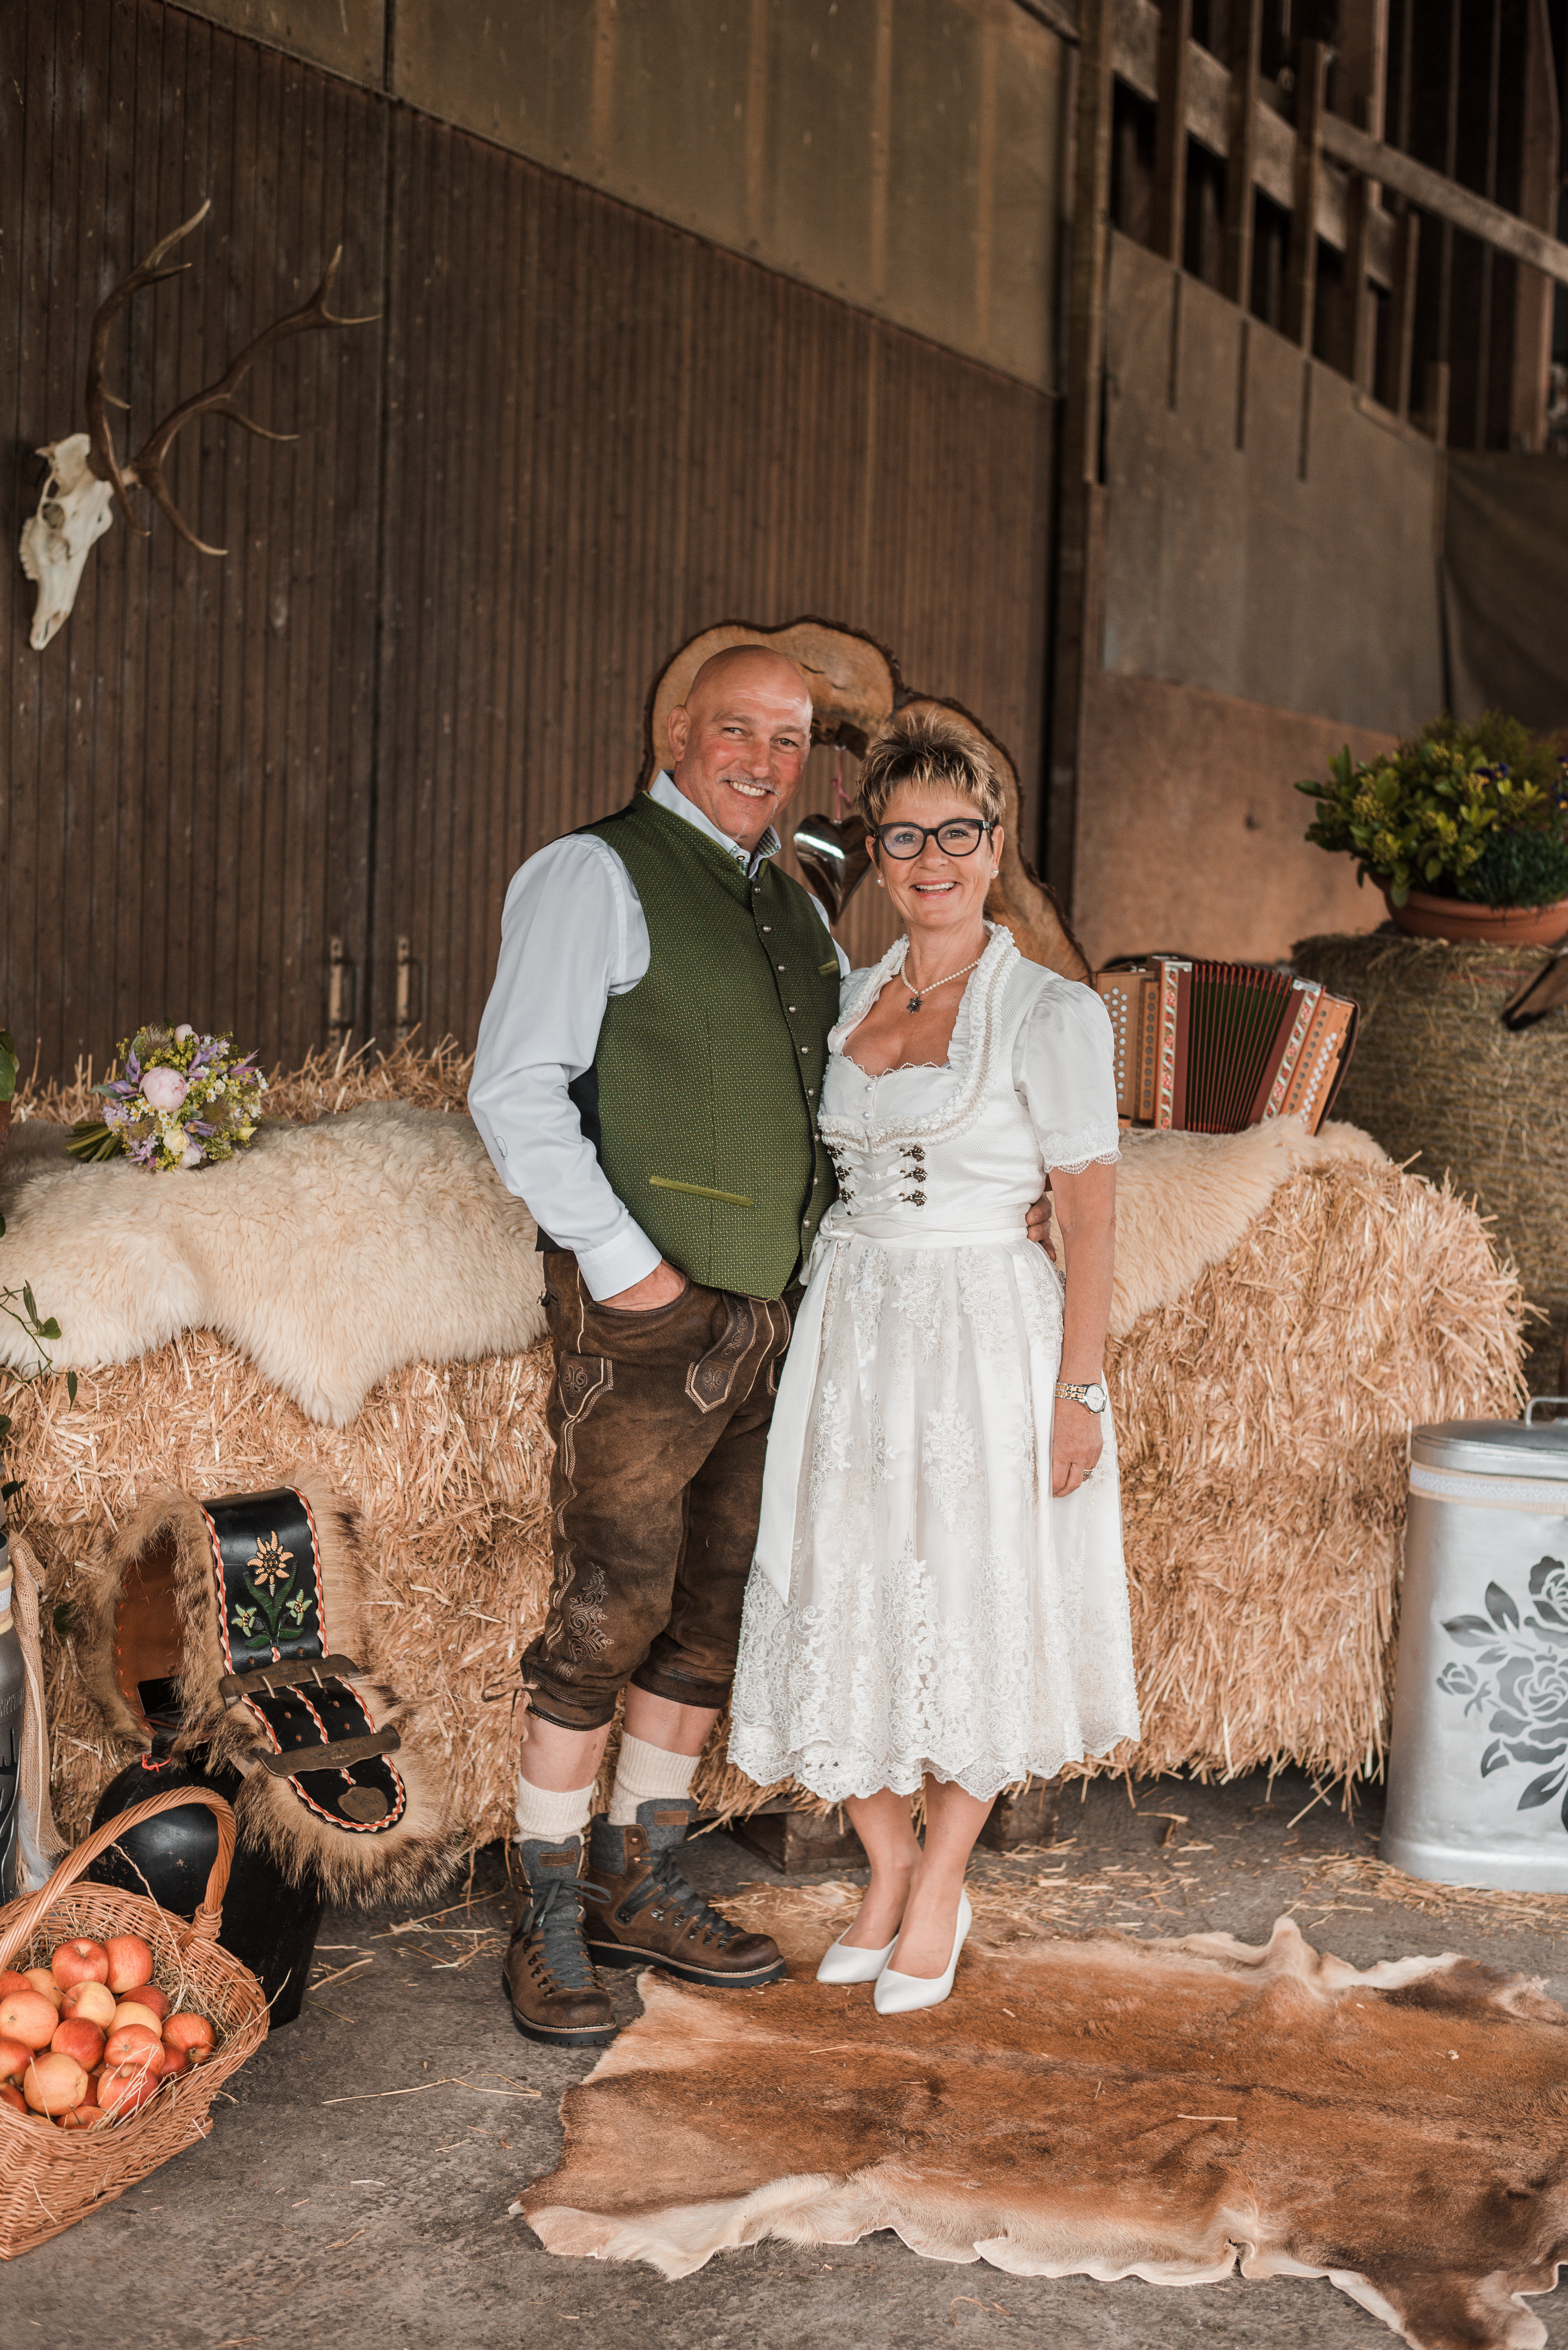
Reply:
[[1521, 1351], [1476, 1213], [1352, 1159], [1112, 1344], [1143, 1741], [1110, 1767], [1380, 1767], [1408, 1431], [1512, 1417]]

